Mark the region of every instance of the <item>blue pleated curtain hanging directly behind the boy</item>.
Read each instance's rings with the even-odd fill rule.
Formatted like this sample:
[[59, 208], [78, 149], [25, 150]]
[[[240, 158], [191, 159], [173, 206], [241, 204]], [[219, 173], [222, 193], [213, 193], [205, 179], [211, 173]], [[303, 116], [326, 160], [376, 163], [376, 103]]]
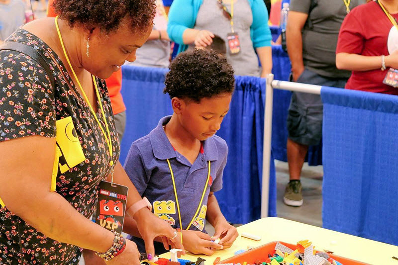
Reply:
[[[167, 69], [123, 66], [122, 95], [127, 107], [121, 143], [123, 164], [131, 143], [148, 134], [161, 117], [173, 110], [163, 94]], [[260, 218], [265, 80], [236, 77], [231, 108], [217, 133], [228, 144], [228, 163], [222, 190], [216, 193], [228, 221], [248, 223]], [[276, 181], [271, 159], [269, 216], [276, 216]]]

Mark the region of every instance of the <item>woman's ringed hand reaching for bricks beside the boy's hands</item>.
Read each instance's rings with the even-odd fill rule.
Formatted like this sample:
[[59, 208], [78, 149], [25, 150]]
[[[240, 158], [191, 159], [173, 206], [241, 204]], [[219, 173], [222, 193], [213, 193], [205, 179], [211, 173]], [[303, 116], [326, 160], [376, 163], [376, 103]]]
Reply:
[[[180, 234], [176, 232], [165, 220], [155, 216], [147, 208], [139, 210], [134, 214], [134, 219], [137, 221], [137, 228], [141, 234], [142, 239], [145, 241], [145, 250], [148, 260], [152, 260], [155, 253], [153, 247], [153, 240], [156, 237], [162, 238], [163, 245], [168, 249], [168, 242], [171, 243], [173, 248], [182, 249], [183, 252], [179, 253], [185, 255], [183, 244], [181, 244]], [[177, 235], [177, 236], [175, 236]]]

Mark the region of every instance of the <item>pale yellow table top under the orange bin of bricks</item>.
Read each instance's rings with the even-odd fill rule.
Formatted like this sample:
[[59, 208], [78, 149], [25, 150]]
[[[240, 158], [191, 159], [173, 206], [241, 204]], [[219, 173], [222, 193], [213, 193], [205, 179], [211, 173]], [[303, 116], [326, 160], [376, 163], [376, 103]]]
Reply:
[[[236, 251], [242, 249], [246, 250], [248, 246], [259, 247], [272, 241], [284, 241], [286, 243], [296, 244], [300, 240], [308, 239], [313, 243], [315, 249], [319, 251], [326, 249], [334, 252], [333, 254], [337, 256], [371, 265], [398, 265], [398, 261], [392, 259], [393, 256], [398, 257], [397, 246], [283, 218], [263, 218], [242, 225], [237, 229], [239, 234], [246, 232], [260, 236], [261, 240], [254, 241], [239, 236], [230, 249], [216, 251], [211, 257], [187, 254], [182, 256], [181, 259], [196, 261], [198, 257], [201, 257], [206, 260], [205, 265], [212, 265], [217, 257], [220, 257], [221, 261], [226, 260], [234, 256]], [[160, 257], [170, 259], [170, 253], [165, 253]]]

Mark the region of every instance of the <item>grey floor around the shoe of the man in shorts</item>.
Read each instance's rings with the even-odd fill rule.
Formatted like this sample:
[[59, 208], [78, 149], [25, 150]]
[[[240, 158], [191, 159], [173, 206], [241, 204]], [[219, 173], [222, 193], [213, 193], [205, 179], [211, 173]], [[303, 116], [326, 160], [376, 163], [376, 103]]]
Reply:
[[309, 167], [304, 164], [301, 173], [304, 203], [300, 207], [288, 206], [283, 202], [286, 184], [289, 182], [288, 163], [275, 161], [277, 172], [277, 214], [289, 220], [322, 227], [322, 177], [323, 167]]

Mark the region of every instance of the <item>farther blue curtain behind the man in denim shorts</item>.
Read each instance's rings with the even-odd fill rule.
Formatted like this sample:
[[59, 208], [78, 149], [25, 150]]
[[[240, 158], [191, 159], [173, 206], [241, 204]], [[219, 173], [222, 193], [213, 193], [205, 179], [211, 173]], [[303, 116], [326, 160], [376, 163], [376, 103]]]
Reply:
[[[274, 28], [276, 30], [276, 28]], [[282, 47], [272, 46], [272, 73], [275, 80], [289, 81], [291, 64], [288, 54]], [[277, 160], [288, 161], [286, 155], [286, 141], [288, 140], [288, 129], [286, 119], [292, 92], [274, 89], [274, 106], [272, 115], [272, 150]], [[322, 165], [322, 143], [310, 146], [306, 161], [310, 166]]]

